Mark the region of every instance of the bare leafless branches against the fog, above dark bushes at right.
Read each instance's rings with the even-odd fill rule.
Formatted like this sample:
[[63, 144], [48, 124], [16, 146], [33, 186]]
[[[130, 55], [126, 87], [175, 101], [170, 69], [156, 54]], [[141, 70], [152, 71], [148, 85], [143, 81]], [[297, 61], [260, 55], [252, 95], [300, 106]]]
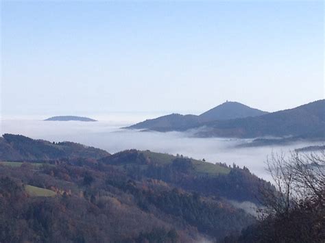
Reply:
[[267, 170], [276, 190], [263, 189], [263, 205], [269, 213], [287, 214], [304, 200], [324, 201], [325, 152], [272, 153], [267, 157]]

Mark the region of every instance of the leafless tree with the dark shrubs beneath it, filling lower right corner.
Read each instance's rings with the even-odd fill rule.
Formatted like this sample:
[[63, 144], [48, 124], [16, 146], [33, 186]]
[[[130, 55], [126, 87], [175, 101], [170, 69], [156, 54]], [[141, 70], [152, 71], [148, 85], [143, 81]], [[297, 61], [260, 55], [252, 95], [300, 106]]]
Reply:
[[[261, 190], [260, 238], [271, 242], [325, 242], [325, 153], [272, 153], [274, 188]], [[269, 242], [266, 240], [266, 242]]]

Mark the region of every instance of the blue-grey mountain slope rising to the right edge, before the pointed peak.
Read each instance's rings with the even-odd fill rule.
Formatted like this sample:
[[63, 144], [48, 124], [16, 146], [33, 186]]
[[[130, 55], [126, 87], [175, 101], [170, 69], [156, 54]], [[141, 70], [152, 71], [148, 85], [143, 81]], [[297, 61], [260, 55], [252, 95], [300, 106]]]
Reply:
[[262, 116], [215, 120], [203, 124], [200, 137], [257, 138], [263, 136], [325, 139], [325, 100]]

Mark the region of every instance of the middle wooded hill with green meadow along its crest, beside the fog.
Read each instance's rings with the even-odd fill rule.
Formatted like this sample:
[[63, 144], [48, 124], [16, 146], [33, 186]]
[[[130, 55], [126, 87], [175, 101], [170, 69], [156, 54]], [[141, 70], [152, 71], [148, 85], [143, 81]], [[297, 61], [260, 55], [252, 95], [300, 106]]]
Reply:
[[99, 161], [125, 170], [134, 179], [159, 179], [184, 190], [236, 201], [258, 203], [258, 188], [269, 187], [269, 183], [252, 175], [248, 168], [230, 168], [226, 164], [151, 151], [122, 151]]

